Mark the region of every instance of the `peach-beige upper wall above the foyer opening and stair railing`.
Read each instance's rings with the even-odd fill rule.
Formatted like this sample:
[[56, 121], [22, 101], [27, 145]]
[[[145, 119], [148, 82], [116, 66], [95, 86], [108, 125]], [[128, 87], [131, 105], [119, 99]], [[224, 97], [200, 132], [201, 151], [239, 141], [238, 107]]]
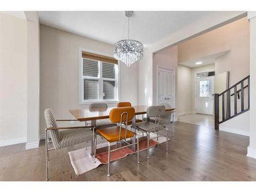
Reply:
[[216, 74], [229, 71], [232, 85], [249, 74], [249, 22], [246, 17], [178, 46], [179, 62], [230, 50], [216, 59]]

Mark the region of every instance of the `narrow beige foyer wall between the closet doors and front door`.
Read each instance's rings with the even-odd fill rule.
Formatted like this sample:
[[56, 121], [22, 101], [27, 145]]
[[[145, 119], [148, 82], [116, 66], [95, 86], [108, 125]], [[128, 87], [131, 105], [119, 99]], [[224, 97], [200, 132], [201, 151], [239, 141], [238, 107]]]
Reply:
[[178, 65], [177, 112], [186, 114], [191, 111], [191, 68]]

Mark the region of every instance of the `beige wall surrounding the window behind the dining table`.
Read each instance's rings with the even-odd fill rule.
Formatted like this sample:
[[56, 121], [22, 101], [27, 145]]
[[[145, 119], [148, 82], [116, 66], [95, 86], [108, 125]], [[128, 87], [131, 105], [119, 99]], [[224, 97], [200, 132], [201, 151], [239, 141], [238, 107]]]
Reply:
[[[108, 55], [113, 55], [114, 51], [113, 45], [40, 25], [41, 135], [46, 126], [46, 108], [52, 108], [56, 119], [74, 119], [69, 109], [88, 108], [79, 104], [79, 48]], [[138, 63], [130, 68], [120, 63], [119, 99], [138, 104]], [[60, 125], [68, 126], [70, 122]]]

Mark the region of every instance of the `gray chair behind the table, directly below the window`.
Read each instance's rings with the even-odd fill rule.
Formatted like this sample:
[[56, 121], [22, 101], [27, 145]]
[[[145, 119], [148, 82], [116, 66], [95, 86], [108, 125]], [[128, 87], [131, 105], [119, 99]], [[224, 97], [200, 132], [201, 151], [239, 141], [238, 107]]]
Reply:
[[[90, 111], [108, 110], [108, 104], [106, 103], [91, 103], [89, 106]], [[102, 129], [107, 127], [116, 126], [116, 123], [112, 123], [109, 119], [97, 120], [96, 129]]]

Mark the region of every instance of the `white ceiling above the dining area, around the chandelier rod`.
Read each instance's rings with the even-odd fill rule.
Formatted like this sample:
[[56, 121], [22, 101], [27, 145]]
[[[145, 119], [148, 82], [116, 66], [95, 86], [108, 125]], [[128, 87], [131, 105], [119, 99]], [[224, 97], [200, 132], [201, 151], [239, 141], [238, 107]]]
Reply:
[[[115, 44], [127, 38], [124, 11], [39, 11], [41, 24]], [[166, 37], [214, 11], [135, 11], [130, 20], [130, 38], [144, 45]], [[126, 25], [125, 25], [126, 24]]]

